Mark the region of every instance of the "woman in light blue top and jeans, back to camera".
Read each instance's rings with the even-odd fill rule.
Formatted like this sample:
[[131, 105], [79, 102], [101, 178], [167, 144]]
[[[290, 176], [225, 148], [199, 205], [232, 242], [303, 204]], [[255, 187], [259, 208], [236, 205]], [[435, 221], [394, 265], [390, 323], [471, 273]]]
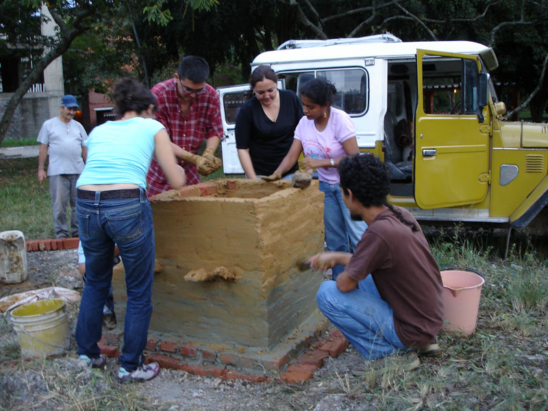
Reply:
[[114, 87], [114, 101], [122, 118], [92, 130], [86, 142], [86, 166], [76, 184], [79, 237], [86, 256], [76, 342], [82, 362], [94, 368], [105, 366], [97, 342], [116, 243], [127, 288], [118, 376], [123, 382], [133, 382], [151, 379], [160, 371], [156, 362], [143, 364], [142, 356], [152, 312], [154, 227], [145, 180], [152, 155], [172, 187], [184, 186], [186, 176], [175, 161], [166, 129], [153, 120], [155, 99], [150, 90], [123, 79]]

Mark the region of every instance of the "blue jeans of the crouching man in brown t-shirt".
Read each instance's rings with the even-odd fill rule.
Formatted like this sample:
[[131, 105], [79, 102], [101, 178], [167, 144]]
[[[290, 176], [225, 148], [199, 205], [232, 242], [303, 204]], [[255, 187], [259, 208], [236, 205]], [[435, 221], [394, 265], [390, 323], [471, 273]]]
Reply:
[[373, 277], [359, 284], [340, 292], [334, 281], [323, 282], [316, 295], [318, 308], [367, 360], [406, 349], [396, 335], [393, 310], [379, 296]]

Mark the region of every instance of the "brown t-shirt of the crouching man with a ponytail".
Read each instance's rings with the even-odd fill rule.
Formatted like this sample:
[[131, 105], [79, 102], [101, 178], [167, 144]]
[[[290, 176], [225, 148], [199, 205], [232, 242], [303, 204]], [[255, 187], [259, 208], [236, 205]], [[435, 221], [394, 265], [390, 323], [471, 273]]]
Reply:
[[[404, 208], [395, 207], [414, 222]], [[373, 275], [384, 301], [394, 310], [396, 334], [406, 347], [424, 347], [443, 327], [443, 284], [436, 260], [421, 231], [385, 210], [369, 225], [346, 266], [358, 281]]]

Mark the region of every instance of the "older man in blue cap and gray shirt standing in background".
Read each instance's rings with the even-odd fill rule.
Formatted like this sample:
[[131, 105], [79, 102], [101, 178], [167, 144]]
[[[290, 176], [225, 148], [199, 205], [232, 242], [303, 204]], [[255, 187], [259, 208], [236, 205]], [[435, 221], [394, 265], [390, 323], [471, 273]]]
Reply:
[[[46, 120], [38, 134], [40, 153], [38, 154], [38, 181], [46, 177], [44, 164], [49, 153], [47, 177], [49, 194], [53, 207], [53, 229], [56, 238], [77, 237], [76, 180], [84, 169], [88, 148], [84, 141], [88, 138], [82, 124], [73, 119], [79, 108], [73, 95], [61, 99], [61, 112]], [[71, 231], [66, 222], [66, 204], [71, 201]]]

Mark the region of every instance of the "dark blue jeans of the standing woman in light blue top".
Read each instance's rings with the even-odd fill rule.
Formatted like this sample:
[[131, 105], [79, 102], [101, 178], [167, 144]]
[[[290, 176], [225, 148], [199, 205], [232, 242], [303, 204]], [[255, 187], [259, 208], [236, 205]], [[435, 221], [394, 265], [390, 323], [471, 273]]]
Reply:
[[114, 243], [118, 245], [125, 269], [127, 308], [124, 345], [120, 362], [133, 371], [144, 360], [152, 313], [154, 270], [154, 227], [145, 190], [140, 198], [77, 199], [79, 236], [86, 255], [86, 286], [76, 325], [78, 353], [97, 358], [101, 353], [103, 306], [112, 282]]

